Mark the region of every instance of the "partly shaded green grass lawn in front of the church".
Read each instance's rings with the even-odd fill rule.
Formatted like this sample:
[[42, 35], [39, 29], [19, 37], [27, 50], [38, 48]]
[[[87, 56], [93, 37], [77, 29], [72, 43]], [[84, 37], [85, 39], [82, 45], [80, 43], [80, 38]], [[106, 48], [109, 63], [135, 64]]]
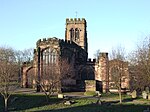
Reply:
[[[102, 105], [95, 104], [96, 98], [71, 100], [75, 103], [66, 106], [64, 100], [56, 97], [51, 98], [50, 103], [47, 103], [44, 95], [16, 94], [9, 101], [9, 109], [11, 112], [143, 112], [144, 109], [150, 107], [149, 101], [143, 99], [132, 101], [126, 95], [124, 95], [122, 105], [118, 103], [116, 95], [102, 95], [102, 100], [105, 101]], [[3, 112], [3, 107], [3, 100], [0, 97], [0, 112]]]

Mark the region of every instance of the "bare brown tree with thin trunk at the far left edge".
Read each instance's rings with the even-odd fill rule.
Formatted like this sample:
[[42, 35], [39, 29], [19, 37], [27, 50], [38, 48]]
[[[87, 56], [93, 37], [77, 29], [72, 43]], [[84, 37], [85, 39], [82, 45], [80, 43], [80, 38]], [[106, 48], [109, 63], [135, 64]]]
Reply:
[[8, 99], [18, 87], [18, 67], [12, 48], [0, 48], [0, 93], [4, 97], [5, 111], [8, 111]]

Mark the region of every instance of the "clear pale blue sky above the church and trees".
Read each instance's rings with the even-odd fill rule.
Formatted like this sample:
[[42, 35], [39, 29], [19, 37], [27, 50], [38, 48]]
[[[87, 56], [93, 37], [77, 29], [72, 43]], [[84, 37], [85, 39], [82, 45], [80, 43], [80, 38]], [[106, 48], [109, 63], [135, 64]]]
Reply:
[[[42, 38], [65, 39], [66, 18], [87, 21], [89, 58], [118, 45], [127, 52], [150, 33], [150, 0], [0, 0], [0, 46], [36, 48]], [[77, 13], [76, 13], [77, 12]]]

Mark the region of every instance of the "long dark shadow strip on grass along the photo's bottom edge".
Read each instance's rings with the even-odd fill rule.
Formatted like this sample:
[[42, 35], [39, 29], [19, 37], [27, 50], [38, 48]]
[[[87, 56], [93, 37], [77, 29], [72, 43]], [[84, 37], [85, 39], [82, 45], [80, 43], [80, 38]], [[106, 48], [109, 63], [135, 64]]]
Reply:
[[64, 109], [41, 110], [37, 112], [143, 112], [150, 105], [96, 105], [68, 107]]

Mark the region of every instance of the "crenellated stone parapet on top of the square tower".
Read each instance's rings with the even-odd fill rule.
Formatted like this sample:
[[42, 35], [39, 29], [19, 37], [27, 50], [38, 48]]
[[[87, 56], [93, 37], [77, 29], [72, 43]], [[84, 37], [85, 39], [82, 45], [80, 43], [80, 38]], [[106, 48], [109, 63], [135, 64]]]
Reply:
[[85, 18], [67, 18], [66, 19], [66, 24], [68, 23], [79, 23], [79, 24], [83, 24], [83, 23], [86, 23], [86, 20]]

